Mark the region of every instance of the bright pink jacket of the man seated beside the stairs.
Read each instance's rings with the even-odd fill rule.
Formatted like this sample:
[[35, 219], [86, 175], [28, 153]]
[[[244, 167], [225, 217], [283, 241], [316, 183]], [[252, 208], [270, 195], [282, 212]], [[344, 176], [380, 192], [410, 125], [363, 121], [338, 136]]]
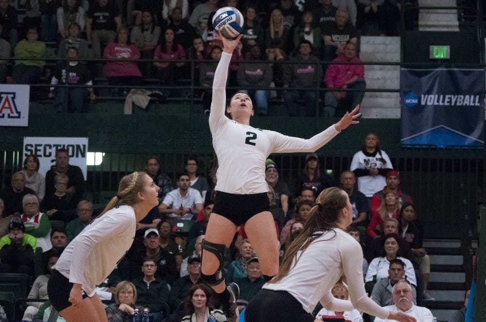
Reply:
[[[339, 56], [333, 62], [362, 62], [362, 60], [357, 57], [347, 60], [346, 57]], [[354, 76], [364, 78], [363, 65], [330, 64], [324, 82], [328, 87], [341, 87]]]

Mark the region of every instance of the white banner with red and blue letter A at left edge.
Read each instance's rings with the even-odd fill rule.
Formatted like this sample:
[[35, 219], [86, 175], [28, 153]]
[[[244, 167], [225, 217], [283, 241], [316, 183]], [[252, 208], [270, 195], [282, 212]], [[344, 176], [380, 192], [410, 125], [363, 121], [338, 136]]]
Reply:
[[0, 86], [0, 126], [29, 126], [29, 85]]

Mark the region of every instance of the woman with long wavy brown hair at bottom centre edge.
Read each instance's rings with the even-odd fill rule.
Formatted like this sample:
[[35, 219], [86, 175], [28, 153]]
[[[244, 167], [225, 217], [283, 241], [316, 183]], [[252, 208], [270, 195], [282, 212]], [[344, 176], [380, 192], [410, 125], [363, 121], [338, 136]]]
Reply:
[[186, 302], [188, 315], [184, 316], [181, 322], [208, 321], [209, 316], [214, 316], [216, 322], [226, 322], [223, 311], [213, 309], [212, 295], [213, 291], [206, 284], [194, 285]]

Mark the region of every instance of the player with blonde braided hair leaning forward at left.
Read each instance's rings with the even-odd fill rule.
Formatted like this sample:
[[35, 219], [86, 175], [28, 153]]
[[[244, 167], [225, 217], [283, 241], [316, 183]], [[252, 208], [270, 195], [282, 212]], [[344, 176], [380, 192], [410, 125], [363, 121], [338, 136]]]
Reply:
[[132, 245], [137, 222], [158, 205], [158, 191], [144, 172], [123, 177], [117, 196], [63, 251], [47, 291], [52, 306], [66, 321], [108, 321], [95, 287]]

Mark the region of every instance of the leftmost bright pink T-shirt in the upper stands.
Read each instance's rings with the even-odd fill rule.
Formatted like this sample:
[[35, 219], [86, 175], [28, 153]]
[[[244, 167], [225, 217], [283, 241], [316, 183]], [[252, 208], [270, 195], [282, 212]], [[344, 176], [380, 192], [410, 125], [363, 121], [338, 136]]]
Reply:
[[[130, 58], [133, 60], [140, 58], [139, 48], [135, 45], [121, 45], [119, 43], [109, 43], [104, 48], [105, 58]], [[107, 62], [106, 77], [117, 76], [142, 76], [139, 67], [132, 62]]]

